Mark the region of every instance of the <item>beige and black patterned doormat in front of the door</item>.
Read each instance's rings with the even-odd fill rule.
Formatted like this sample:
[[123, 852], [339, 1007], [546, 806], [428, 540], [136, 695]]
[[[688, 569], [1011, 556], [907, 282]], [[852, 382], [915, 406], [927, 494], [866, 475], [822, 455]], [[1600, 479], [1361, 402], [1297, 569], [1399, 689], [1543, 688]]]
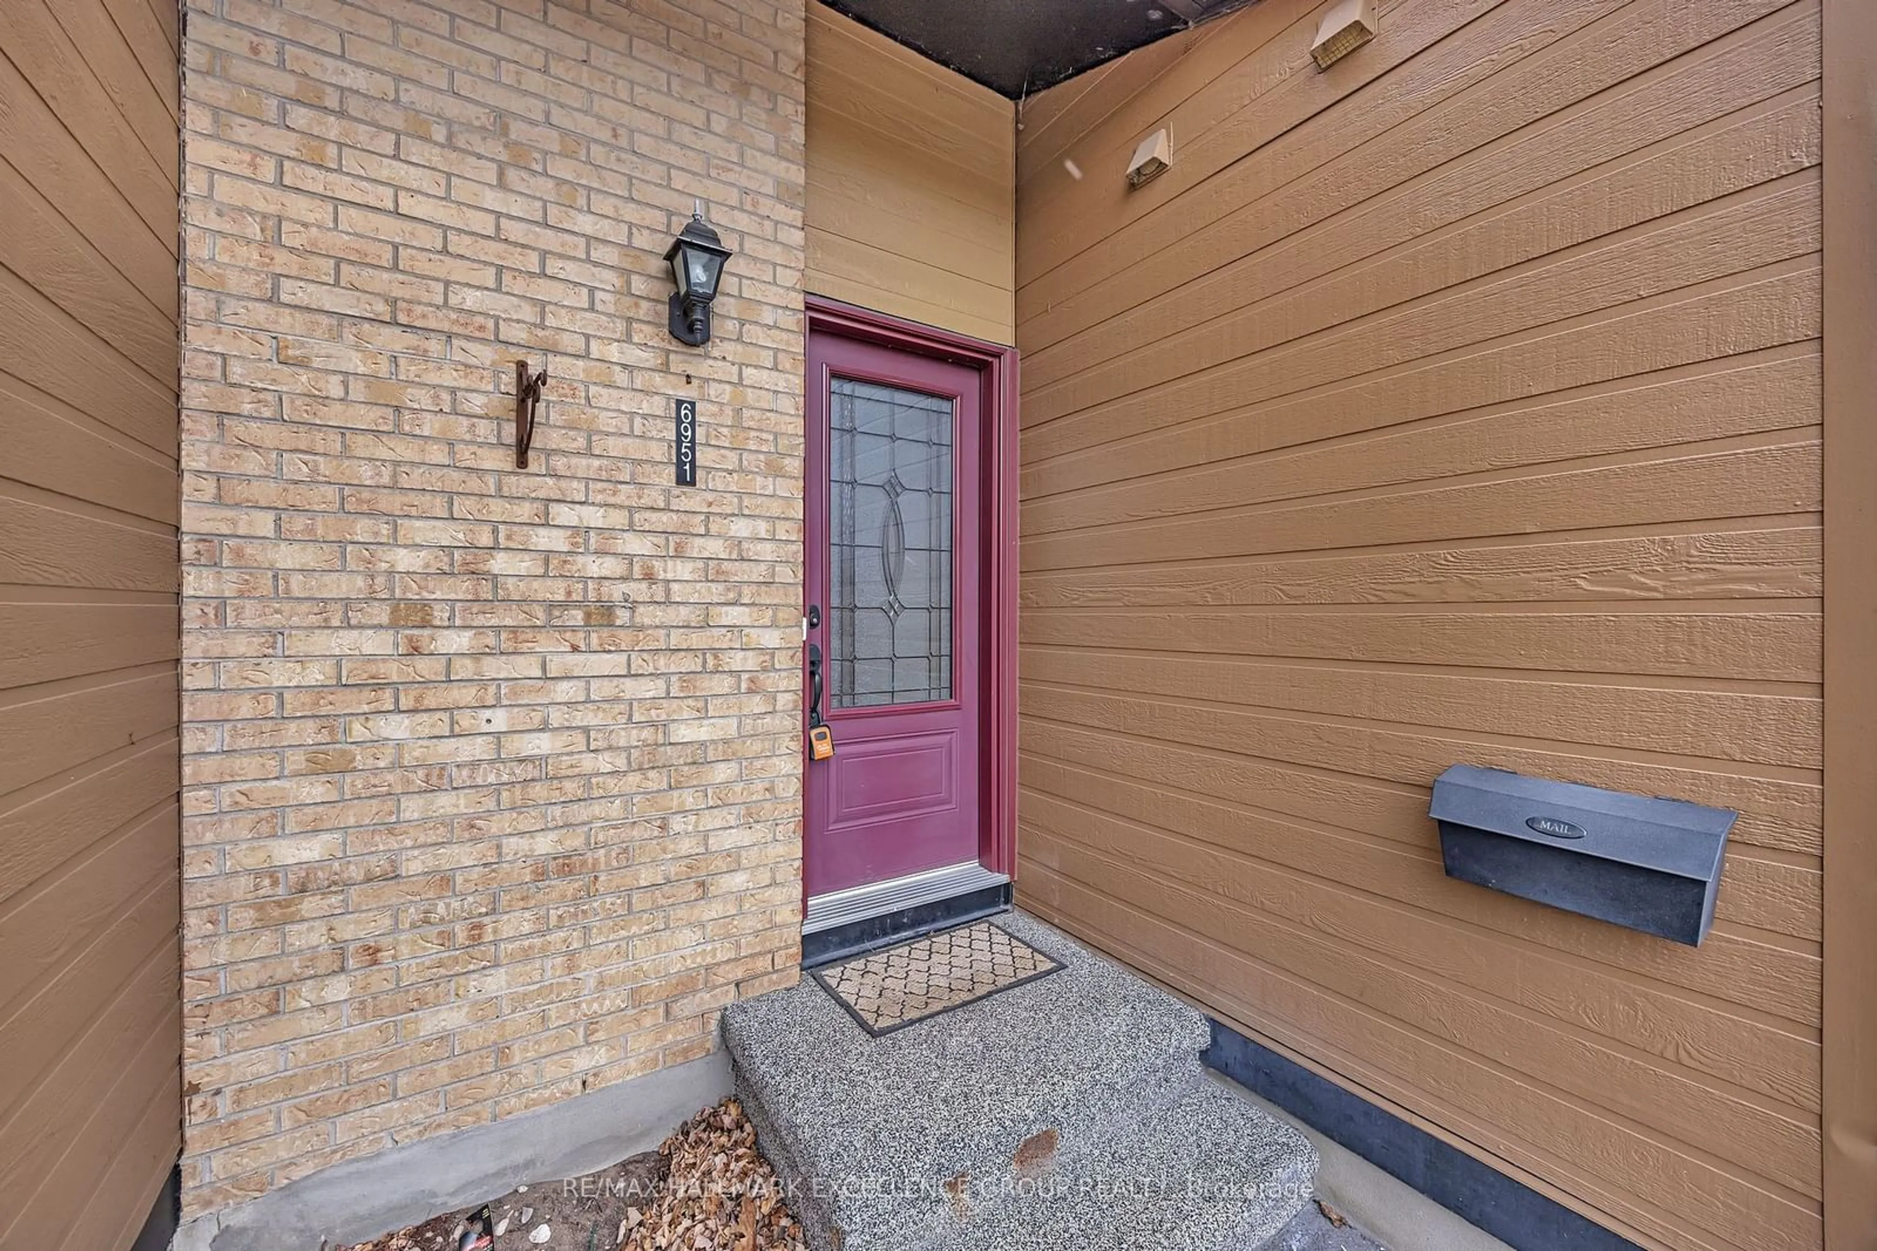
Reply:
[[1047, 977], [1062, 968], [1008, 930], [978, 921], [873, 951], [809, 975], [878, 1037]]

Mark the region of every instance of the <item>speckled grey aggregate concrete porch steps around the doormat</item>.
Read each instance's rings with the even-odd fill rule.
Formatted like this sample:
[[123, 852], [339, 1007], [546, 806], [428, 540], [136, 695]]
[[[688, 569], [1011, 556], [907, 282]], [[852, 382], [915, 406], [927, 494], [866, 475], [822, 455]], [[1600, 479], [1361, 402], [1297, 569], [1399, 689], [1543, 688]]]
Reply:
[[1034, 917], [1062, 972], [871, 1037], [811, 979], [723, 1035], [818, 1251], [1254, 1251], [1316, 1150], [1207, 1080], [1194, 1009]]

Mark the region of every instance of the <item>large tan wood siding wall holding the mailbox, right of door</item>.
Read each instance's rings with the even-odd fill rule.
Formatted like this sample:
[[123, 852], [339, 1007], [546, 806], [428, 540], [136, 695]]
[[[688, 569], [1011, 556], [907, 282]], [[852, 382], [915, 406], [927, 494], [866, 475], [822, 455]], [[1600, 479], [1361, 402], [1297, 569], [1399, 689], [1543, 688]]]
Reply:
[[[1023, 111], [1019, 897], [1642, 1245], [1819, 1247], [1819, 0], [1318, 9]], [[1447, 880], [1455, 761], [1738, 808], [1712, 938]]]

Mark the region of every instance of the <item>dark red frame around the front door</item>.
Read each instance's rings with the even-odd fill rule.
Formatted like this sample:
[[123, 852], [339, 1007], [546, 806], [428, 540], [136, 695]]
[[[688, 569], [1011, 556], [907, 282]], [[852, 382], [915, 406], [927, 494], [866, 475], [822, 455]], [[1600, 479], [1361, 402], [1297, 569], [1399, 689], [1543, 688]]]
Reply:
[[[935, 360], [976, 368], [984, 377], [978, 399], [984, 422], [984, 735], [980, 743], [984, 797], [978, 818], [978, 863], [1010, 880], [1017, 876], [1017, 349], [925, 326], [903, 317], [805, 296], [803, 377], [807, 336], [835, 334], [860, 343], [892, 347]], [[803, 413], [807, 398], [803, 396]], [[803, 458], [803, 473], [807, 460]], [[803, 566], [805, 568], [805, 566]], [[805, 694], [805, 692], [803, 692]], [[807, 788], [803, 788], [807, 803]], [[807, 812], [801, 823], [807, 837]], [[803, 880], [805, 889], [805, 880]]]

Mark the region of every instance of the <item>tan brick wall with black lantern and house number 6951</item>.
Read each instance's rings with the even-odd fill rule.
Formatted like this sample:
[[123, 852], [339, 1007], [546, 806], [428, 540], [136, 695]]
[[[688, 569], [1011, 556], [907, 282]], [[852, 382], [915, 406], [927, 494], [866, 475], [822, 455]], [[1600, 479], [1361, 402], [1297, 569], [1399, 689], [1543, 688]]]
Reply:
[[[801, 19], [190, 0], [188, 1215], [794, 979]], [[738, 253], [702, 351], [693, 197]]]

